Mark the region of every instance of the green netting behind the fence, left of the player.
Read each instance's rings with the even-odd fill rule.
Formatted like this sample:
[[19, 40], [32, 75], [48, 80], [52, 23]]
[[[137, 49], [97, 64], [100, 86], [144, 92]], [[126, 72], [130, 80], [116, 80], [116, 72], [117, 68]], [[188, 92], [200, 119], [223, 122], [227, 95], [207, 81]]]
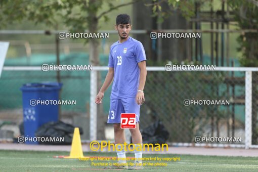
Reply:
[[[108, 64], [108, 56], [100, 55], [101, 65]], [[41, 66], [42, 64], [56, 64], [55, 54], [37, 54], [29, 59], [20, 57], [7, 59], [5, 66]], [[88, 65], [89, 54], [74, 53], [61, 55], [60, 64], [62, 65]], [[90, 71], [61, 71], [61, 91], [62, 100], [76, 100], [74, 106], [62, 106], [62, 110], [85, 112], [86, 104], [90, 102]], [[107, 71], [103, 71], [104, 79]], [[22, 107], [22, 92], [20, 88], [24, 83], [57, 81], [56, 71], [3, 71], [0, 80], [0, 109], [16, 109]], [[109, 111], [110, 88], [105, 94], [104, 112]]]

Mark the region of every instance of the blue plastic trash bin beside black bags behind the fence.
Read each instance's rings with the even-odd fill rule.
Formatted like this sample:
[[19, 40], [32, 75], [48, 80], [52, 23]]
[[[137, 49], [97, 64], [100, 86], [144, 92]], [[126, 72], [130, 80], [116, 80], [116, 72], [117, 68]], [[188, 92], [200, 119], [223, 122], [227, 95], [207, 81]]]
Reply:
[[[38, 127], [50, 121], [58, 121], [58, 105], [37, 104], [37, 101], [59, 100], [62, 83], [26, 83], [21, 87], [23, 104], [24, 137], [33, 138]], [[26, 144], [38, 142], [26, 141]]]

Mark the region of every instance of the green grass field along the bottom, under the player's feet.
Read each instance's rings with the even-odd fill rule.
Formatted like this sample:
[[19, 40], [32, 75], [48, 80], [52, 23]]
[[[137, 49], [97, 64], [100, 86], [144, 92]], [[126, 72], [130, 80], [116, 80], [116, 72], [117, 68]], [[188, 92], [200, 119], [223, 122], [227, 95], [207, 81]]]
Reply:
[[[92, 166], [91, 161], [53, 158], [68, 155], [68, 152], [8, 151], [0, 150], [0, 171], [95, 171], [105, 170], [104, 166]], [[84, 156], [116, 156], [115, 153], [84, 152]], [[126, 154], [134, 157], [134, 154]], [[180, 157], [180, 161], [169, 161], [167, 166], [145, 166], [141, 171], [258, 171], [258, 158], [197, 156], [197, 155], [154, 155], [144, 157]], [[131, 160], [133, 162], [133, 160]], [[107, 162], [107, 161], [94, 161]], [[113, 161], [112, 161], [113, 162]], [[155, 163], [154, 161], [148, 161]], [[157, 161], [156, 161], [157, 162]], [[164, 161], [162, 161], [164, 162]], [[123, 170], [123, 169], [119, 169]], [[124, 169], [126, 170], [126, 169]]]

